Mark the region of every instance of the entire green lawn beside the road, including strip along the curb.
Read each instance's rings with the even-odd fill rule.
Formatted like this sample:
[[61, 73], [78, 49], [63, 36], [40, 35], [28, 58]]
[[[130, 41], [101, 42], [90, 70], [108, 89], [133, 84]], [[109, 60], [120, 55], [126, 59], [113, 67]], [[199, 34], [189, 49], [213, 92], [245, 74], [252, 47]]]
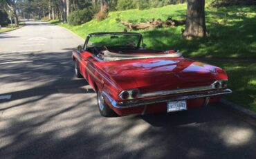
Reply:
[[[148, 48], [179, 49], [184, 57], [256, 58], [256, 6], [232, 6], [228, 8], [205, 8], [207, 39], [188, 41], [181, 36], [181, 29], [156, 28], [134, 30], [143, 34]], [[170, 5], [149, 10], [126, 10], [110, 12], [103, 21], [93, 19], [80, 26], [69, 26], [61, 21], [49, 21], [72, 30], [84, 38], [91, 32], [122, 31], [120, 21], [145, 22], [152, 18], [165, 20], [185, 19], [186, 4]], [[210, 62], [224, 68], [229, 76], [233, 93], [225, 95], [235, 102], [256, 112], [256, 64], [234, 62]]]

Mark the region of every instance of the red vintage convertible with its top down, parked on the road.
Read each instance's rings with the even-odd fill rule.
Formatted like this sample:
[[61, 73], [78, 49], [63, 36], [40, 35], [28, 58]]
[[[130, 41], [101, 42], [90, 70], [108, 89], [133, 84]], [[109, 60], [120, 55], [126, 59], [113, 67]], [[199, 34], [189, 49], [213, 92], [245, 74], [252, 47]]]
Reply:
[[151, 50], [135, 32], [98, 32], [73, 49], [76, 77], [97, 93], [106, 117], [198, 108], [231, 93], [217, 66], [185, 59], [179, 50]]

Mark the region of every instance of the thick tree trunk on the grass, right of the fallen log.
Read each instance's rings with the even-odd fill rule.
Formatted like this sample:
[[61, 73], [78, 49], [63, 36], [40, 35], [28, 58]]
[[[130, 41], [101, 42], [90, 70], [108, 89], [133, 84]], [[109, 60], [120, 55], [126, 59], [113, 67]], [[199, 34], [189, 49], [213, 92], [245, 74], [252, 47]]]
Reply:
[[188, 0], [187, 19], [183, 36], [186, 39], [206, 37], [205, 0]]

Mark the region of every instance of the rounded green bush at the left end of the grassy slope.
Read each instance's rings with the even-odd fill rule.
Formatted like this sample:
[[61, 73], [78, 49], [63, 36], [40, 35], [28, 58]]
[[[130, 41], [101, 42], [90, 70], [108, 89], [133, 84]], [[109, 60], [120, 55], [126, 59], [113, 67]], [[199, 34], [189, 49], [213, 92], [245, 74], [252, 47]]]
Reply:
[[68, 24], [71, 26], [77, 26], [91, 21], [91, 19], [93, 19], [93, 11], [91, 8], [75, 10], [68, 16]]

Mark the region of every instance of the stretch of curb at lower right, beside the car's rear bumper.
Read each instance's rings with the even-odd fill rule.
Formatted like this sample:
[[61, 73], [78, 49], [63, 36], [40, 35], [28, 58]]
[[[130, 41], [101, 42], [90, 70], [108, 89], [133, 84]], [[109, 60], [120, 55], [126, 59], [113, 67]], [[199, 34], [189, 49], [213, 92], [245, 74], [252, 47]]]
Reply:
[[221, 99], [220, 101], [222, 104], [227, 106], [229, 109], [232, 109], [233, 111], [237, 111], [238, 113], [241, 113], [243, 115], [247, 115], [250, 118], [253, 118], [256, 120], [256, 113], [254, 111], [250, 111], [248, 109], [244, 109], [242, 106], [239, 106], [235, 103], [232, 103], [228, 100]]

